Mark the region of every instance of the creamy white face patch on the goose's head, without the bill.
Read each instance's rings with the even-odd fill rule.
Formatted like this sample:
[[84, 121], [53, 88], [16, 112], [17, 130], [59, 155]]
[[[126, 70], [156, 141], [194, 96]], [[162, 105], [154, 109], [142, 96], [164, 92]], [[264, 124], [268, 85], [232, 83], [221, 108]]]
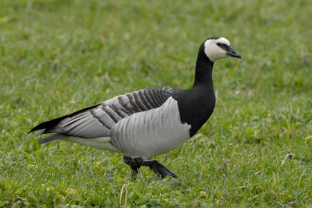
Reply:
[[220, 58], [227, 57], [227, 51], [221, 49], [217, 43], [227, 44], [227, 46], [231, 46], [228, 40], [224, 37], [220, 37], [218, 39], [209, 39], [205, 42], [205, 53], [207, 57], [211, 60], [211, 62], [215, 62]]

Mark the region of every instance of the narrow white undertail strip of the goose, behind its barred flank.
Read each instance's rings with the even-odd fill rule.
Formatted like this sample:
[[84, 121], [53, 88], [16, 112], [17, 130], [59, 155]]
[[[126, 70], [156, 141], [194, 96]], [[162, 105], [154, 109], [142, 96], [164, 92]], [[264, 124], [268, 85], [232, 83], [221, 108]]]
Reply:
[[109, 150], [115, 153], [121, 153], [110, 144], [110, 137], [96, 137], [96, 138], [80, 138], [80, 137], [66, 137], [62, 139], [64, 141], [70, 141], [73, 143], [83, 144], [85, 146], [91, 146], [93, 148], [98, 148], [100, 150]]

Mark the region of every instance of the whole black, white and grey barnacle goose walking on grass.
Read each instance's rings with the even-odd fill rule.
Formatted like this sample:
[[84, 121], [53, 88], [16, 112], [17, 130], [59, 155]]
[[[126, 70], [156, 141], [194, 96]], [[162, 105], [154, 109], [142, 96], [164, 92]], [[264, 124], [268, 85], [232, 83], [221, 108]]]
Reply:
[[209, 119], [216, 103], [212, 67], [227, 56], [241, 58], [227, 39], [209, 37], [200, 46], [191, 89], [140, 89], [40, 123], [30, 132], [40, 130], [33, 137], [54, 133], [38, 144], [61, 139], [122, 153], [134, 180], [141, 166], [160, 178], [177, 177], [156, 159], [147, 159], [181, 146]]

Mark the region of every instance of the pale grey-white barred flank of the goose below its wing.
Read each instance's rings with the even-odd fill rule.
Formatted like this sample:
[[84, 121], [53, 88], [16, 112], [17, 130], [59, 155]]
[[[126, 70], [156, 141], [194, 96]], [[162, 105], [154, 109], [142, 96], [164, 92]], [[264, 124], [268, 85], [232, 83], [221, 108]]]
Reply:
[[125, 155], [147, 159], [187, 142], [190, 128], [181, 123], [177, 101], [170, 97], [161, 107], [122, 119], [110, 135]]

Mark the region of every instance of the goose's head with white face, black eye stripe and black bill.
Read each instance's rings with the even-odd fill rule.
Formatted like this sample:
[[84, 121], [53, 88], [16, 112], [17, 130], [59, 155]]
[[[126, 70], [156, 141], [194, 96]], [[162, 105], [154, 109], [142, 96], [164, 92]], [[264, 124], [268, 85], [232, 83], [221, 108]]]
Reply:
[[227, 56], [241, 58], [231, 46], [231, 43], [224, 37], [209, 37], [204, 42], [205, 53], [211, 62]]

